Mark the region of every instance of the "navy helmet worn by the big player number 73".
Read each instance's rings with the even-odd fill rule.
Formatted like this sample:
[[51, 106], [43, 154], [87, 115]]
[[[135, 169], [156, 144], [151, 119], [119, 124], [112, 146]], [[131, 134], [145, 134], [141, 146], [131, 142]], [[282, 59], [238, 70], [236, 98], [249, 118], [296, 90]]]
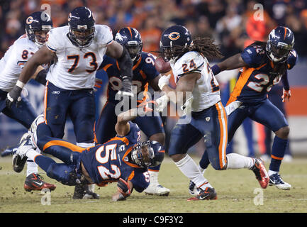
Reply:
[[68, 16], [68, 37], [80, 48], [91, 44], [95, 33], [95, 20], [90, 9], [82, 6], [75, 8]]

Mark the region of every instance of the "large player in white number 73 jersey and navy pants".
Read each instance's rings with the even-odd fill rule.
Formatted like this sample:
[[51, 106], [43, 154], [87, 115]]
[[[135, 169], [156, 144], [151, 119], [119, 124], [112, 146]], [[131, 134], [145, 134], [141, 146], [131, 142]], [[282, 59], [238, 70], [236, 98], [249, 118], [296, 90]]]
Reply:
[[111, 28], [96, 25], [91, 10], [84, 6], [69, 13], [68, 26], [52, 29], [47, 38], [45, 47], [36, 52], [23, 68], [18, 84], [8, 97], [11, 102], [16, 101], [34, 69], [54, 60], [46, 77], [45, 121], [53, 136], [62, 138], [66, 118], [69, 116], [74, 125], [77, 145], [82, 148], [94, 146], [93, 88], [96, 70], [104, 55], [116, 58], [123, 82], [119, 92], [123, 96], [132, 96], [133, 62], [130, 55], [113, 40]]

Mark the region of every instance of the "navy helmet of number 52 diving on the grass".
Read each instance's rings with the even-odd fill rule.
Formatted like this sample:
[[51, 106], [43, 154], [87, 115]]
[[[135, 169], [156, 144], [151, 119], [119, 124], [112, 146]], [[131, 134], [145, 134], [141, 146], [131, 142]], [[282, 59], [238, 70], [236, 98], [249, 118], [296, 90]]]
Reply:
[[164, 147], [157, 141], [140, 142], [131, 151], [133, 162], [139, 167], [155, 167], [164, 159]]

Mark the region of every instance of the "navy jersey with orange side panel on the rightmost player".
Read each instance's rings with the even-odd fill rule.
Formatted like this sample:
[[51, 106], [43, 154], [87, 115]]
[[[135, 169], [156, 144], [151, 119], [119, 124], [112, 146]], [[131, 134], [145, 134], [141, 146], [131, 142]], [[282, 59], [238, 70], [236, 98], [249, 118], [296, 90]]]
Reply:
[[[228, 104], [235, 100], [242, 102], [264, 101], [267, 99], [267, 92], [281, 80], [282, 74], [274, 72], [277, 63], [269, 60], [265, 48], [260, 45], [248, 46], [242, 51], [241, 57], [248, 67], [243, 67], [240, 70], [238, 81], [230, 94]], [[286, 64], [287, 70], [291, 70], [296, 64], [296, 59], [296, 51], [292, 50], [288, 60], [280, 64]]]

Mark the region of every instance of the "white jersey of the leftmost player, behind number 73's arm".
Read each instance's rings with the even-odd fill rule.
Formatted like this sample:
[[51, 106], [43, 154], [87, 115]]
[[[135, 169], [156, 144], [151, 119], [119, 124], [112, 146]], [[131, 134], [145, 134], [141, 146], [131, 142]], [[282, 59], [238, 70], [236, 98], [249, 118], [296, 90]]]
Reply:
[[38, 46], [22, 35], [0, 60], [0, 89], [10, 92], [16, 84], [26, 62], [38, 51]]

